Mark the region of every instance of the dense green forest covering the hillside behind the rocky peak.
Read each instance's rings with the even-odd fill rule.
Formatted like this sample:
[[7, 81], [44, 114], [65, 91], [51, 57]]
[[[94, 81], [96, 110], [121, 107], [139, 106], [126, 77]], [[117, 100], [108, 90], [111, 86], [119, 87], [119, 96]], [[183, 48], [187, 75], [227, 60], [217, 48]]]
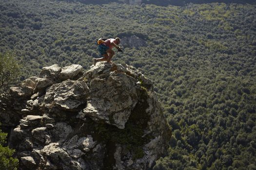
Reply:
[[[122, 44], [134, 35], [142, 45]], [[21, 79], [90, 68], [97, 39], [116, 36], [113, 61], [154, 82], [172, 127], [154, 170], [256, 170], [256, 4], [0, 0], [0, 52], [16, 55]]]

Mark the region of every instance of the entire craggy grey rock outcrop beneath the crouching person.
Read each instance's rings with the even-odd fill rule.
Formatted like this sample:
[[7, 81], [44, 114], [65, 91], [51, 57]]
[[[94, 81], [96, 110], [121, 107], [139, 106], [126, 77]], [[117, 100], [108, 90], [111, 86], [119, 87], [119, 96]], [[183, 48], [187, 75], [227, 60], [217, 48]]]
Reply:
[[20, 170], [148, 170], [168, 148], [153, 85], [128, 65], [46, 67], [3, 106]]

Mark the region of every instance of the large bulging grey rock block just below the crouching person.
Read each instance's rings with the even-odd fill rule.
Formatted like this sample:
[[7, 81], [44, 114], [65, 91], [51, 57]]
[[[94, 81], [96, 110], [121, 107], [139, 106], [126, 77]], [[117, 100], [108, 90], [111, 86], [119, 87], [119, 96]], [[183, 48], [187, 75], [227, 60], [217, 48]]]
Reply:
[[93, 120], [103, 120], [123, 129], [138, 102], [135, 79], [113, 71], [107, 77], [93, 79], [90, 90], [92, 94], [83, 113]]

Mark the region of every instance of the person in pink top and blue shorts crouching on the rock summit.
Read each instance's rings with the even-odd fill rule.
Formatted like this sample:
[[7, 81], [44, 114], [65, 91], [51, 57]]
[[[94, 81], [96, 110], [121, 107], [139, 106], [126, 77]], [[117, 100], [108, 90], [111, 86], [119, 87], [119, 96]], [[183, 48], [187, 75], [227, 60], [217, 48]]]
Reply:
[[111, 63], [111, 58], [115, 54], [112, 50], [114, 47], [116, 49], [120, 49], [118, 46], [120, 44], [120, 38], [110, 38], [110, 39], [99, 39], [98, 40], [98, 51], [103, 56], [102, 58], [93, 58], [93, 65], [95, 66], [99, 61], [107, 61], [107, 63]]

